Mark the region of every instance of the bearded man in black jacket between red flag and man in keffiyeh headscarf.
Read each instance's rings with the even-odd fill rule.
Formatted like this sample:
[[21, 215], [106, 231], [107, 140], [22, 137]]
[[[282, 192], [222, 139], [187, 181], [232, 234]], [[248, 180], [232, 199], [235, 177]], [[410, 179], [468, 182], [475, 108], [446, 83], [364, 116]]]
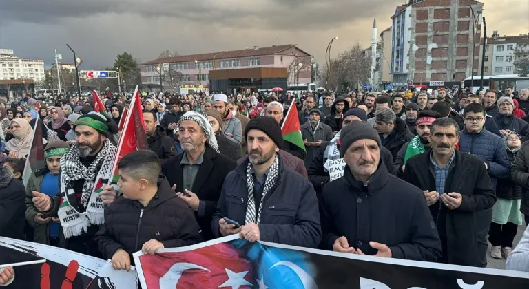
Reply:
[[176, 155], [176, 145], [174, 140], [167, 136], [165, 129], [157, 125], [156, 114], [152, 110], [143, 111], [143, 122], [145, 123], [145, 133], [147, 134], [147, 144], [149, 150], [154, 151], [156, 156], [165, 162], [168, 158]]

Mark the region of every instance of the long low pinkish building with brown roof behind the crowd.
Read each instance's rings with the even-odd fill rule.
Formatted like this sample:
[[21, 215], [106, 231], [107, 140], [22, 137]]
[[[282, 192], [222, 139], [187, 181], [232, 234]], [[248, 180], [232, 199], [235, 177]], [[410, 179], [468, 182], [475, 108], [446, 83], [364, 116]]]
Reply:
[[[206, 86], [209, 83], [209, 70], [213, 69], [284, 67], [289, 72], [289, 85], [311, 83], [312, 57], [295, 44], [288, 44], [159, 58], [140, 65], [141, 82], [159, 85], [161, 76], [163, 86], [167, 87], [171, 84], [165, 80], [176, 78], [170, 76], [175, 73], [180, 79], [178, 83], [174, 81], [174, 87], [185, 84]], [[167, 74], [169, 77], [165, 77]]]

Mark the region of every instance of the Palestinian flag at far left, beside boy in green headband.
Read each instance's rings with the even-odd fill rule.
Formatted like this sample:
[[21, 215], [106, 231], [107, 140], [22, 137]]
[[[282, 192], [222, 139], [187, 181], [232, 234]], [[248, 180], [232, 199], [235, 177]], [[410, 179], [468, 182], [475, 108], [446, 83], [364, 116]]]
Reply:
[[37, 118], [37, 121], [35, 121], [31, 147], [28, 156], [25, 157], [24, 172], [22, 173], [22, 183], [24, 186], [28, 186], [31, 174], [36, 169], [41, 169], [45, 166], [41, 121], [40, 118]]

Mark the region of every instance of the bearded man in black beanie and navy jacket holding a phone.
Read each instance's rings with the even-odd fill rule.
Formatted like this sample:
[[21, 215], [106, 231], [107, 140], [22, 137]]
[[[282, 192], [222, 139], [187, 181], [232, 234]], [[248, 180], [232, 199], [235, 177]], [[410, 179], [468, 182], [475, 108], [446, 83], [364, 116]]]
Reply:
[[278, 122], [254, 118], [245, 138], [249, 158], [222, 186], [211, 222], [215, 237], [238, 234], [249, 242], [316, 248], [322, 237], [318, 200], [310, 182], [282, 162]]

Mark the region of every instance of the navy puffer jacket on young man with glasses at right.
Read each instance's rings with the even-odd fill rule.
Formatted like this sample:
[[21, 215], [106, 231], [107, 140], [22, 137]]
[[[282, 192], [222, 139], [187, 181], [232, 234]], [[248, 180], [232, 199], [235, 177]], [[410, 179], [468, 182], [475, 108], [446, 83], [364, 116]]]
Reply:
[[470, 153], [488, 165], [488, 175], [492, 182], [492, 188], [496, 188], [497, 178], [508, 175], [510, 162], [507, 159], [504, 140], [494, 133], [481, 129], [479, 133], [460, 131], [459, 151]]

